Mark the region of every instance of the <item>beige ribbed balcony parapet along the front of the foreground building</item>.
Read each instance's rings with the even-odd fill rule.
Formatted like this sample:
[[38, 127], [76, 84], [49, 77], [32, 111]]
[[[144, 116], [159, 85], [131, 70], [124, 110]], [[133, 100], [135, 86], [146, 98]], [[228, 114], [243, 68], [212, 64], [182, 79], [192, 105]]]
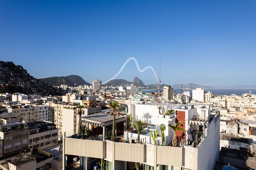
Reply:
[[[153, 144], [135, 144], [113, 142], [109, 140], [83, 140], [70, 137], [63, 139], [63, 152], [67, 155], [105, 158], [110, 162], [127, 161], [182, 166], [184, 147], [157, 146]], [[148, 156], [147, 156], [148, 155]]]

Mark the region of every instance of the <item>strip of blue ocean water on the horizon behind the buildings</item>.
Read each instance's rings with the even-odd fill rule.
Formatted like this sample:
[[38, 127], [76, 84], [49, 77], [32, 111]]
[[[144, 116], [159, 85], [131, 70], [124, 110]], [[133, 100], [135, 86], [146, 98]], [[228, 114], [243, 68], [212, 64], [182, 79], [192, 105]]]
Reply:
[[[143, 90], [145, 92], [153, 92], [156, 93], [156, 90]], [[173, 89], [177, 94], [181, 92], [180, 89]], [[183, 89], [182, 91], [189, 91], [192, 94], [192, 90]], [[231, 94], [236, 94], [242, 96], [244, 93], [256, 94], [256, 89], [229, 89], [229, 88], [221, 88], [221, 89], [205, 89], [206, 92], [211, 91], [212, 95], [227, 95], [231, 96]], [[163, 92], [163, 90], [161, 90]]]

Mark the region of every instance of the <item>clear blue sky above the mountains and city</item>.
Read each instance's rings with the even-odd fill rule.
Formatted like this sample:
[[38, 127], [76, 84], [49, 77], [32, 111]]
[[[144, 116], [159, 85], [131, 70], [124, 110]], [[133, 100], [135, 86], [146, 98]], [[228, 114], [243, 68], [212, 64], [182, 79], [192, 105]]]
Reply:
[[[0, 60], [92, 83], [135, 57], [164, 84], [256, 85], [256, 1], [0, 0]], [[117, 78], [155, 84], [133, 61]]]

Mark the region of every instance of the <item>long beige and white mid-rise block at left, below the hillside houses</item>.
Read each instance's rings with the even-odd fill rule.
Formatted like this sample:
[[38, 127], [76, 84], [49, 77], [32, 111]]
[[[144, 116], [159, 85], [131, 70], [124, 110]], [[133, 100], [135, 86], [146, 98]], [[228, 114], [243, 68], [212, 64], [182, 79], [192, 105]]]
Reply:
[[12, 113], [13, 116], [19, 117], [25, 122], [34, 120], [48, 120], [48, 106], [47, 105], [29, 105], [26, 104], [8, 104], [6, 106], [8, 113]]

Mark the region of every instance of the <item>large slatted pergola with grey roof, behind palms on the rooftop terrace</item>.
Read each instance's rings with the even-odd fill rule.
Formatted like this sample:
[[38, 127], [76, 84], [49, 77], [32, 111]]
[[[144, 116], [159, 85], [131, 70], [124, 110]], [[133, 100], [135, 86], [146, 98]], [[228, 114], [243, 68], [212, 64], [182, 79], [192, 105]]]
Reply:
[[[115, 118], [115, 126], [117, 123], [124, 121], [124, 129], [126, 127], [126, 120], [127, 120], [127, 116], [129, 117], [130, 115], [120, 115], [120, 116], [116, 116]], [[92, 115], [87, 115], [87, 116], [83, 116], [81, 117], [81, 121], [83, 124], [86, 124], [86, 126], [88, 127], [88, 125], [92, 125], [92, 126], [99, 126], [103, 128], [103, 139], [105, 139], [105, 130], [106, 130], [106, 126], [108, 125], [112, 125], [113, 124], [113, 115], [109, 116], [108, 113], [95, 113]], [[115, 127], [116, 129], [116, 127]]]

